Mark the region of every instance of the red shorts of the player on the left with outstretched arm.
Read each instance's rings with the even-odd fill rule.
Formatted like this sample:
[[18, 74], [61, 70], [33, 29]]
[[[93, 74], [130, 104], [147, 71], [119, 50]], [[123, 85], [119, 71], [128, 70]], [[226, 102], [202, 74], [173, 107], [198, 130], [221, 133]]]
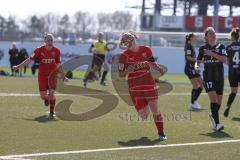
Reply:
[[55, 90], [57, 87], [57, 76], [38, 76], [39, 91]]

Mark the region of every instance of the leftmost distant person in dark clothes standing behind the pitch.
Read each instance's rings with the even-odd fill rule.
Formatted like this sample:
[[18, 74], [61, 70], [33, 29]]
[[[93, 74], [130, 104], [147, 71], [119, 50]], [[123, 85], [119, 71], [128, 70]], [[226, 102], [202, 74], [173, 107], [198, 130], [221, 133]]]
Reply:
[[16, 47], [16, 43], [12, 43], [12, 47], [8, 51], [9, 54], [9, 62], [11, 67], [12, 76], [16, 76], [18, 70], [13, 70], [13, 66], [18, 65], [18, 49]]

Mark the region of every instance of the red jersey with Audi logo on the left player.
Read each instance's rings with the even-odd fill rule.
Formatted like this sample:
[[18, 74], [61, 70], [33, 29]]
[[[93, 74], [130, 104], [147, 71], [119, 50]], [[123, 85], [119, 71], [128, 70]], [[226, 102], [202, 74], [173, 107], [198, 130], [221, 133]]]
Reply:
[[60, 57], [61, 53], [58, 48], [53, 46], [52, 49], [47, 50], [45, 46], [40, 46], [34, 50], [31, 59], [39, 62], [39, 76], [49, 76], [60, 64]]

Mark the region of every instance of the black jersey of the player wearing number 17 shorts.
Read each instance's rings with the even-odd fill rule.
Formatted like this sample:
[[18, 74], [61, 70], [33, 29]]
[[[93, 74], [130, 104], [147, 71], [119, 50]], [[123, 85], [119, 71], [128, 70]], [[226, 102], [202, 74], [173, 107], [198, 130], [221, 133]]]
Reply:
[[214, 46], [206, 44], [199, 48], [199, 54], [197, 57], [197, 60], [203, 60], [204, 63], [203, 72], [204, 81], [223, 81], [224, 80], [223, 63], [212, 56], [206, 55], [204, 53], [204, 49], [210, 50], [221, 56], [227, 56], [225, 46], [221, 43], [217, 43]]

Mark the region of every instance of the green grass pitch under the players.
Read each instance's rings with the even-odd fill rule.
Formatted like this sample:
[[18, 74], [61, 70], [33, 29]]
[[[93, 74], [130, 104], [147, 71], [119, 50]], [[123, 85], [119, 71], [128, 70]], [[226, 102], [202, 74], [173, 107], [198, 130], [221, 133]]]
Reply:
[[[169, 95], [159, 97], [159, 106], [165, 115], [168, 140], [158, 142], [153, 121], [150, 118], [147, 121], [138, 119], [134, 108], [128, 106], [119, 97], [118, 106], [99, 118], [89, 121], [63, 121], [56, 118], [56, 121], [48, 121], [46, 119], [48, 108], [43, 105], [40, 97], [35, 95], [38, 94], [37, 78], [0, 76], [0, 159], [7, 155], [240, 139], [239, 96], [233, 103], [229, 118], [223, 117], [227, 94], [230, 91], [228, 87], [225, 88], [220, 110], [220, 120], [225, 130], [214, 132], [208, 118], [209, 99], [206, 93], [203, 92], [199, 98], [202, 110], [190, 112], [188, 110], [190, 95], [186, 94], [191, 91], [188, 79], [184, 75], [166, 75], [163, 79], [173, 82], [174, 88]], [[82, 86], [82, 81], [74, 79], [68, 84]], [[103, 87], [96, 81], [89, 84], [89, 87], [116, 93], [111, 83]], [[15, 93], [17, 96], [10, 93]], [[21, 96], [25, 93], [29, 95]], [[57, 102], [64, 99], [74, 101], [72, 112], [85, 112], [100, 103], [94, 98], [79, 95], [57, 95]], [[22, 159], [237, 160], [240, 156], [239, 150], [240, 144], [236, 142], [30, 156]]]

